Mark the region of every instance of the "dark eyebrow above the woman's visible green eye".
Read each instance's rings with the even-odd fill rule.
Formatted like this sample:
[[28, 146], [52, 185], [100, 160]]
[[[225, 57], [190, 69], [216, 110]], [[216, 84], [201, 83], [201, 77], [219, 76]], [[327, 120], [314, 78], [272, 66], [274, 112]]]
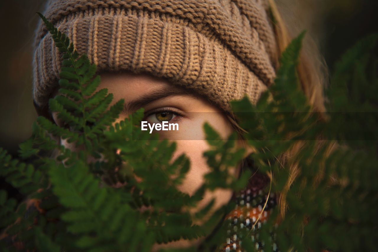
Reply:
[[142, 108], [155, 100], [159, 100], [159, 99], [170, 97], [170, 96], [176, 96], [176, 95], [197, 97], [194, 94], [194, 92], [190, 90], [186, 90], [184, 88], [180, 88], [180, 87], [159, 88], [157, 90], [153, 90], [152, 92], [143, 95], [139, 99], [132, 100], [127, 104], [125, 103], [124, 113], [128, 114], [128, 113], [134, 112], [138, 110], [139, 108]]

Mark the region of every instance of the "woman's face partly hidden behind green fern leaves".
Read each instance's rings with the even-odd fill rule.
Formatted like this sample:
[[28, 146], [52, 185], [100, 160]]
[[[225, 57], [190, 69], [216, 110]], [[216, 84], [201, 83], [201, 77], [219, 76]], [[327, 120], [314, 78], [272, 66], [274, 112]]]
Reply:
[[[223, 138], [232, 132], [232, 126], [224, 113], [201, 96], [188, 93], [167, 80], [158, 79], [146, 74], [107, 73], [101, 74], [98, 89], [107, 88], [113, 93], [113, 103], [125, 100], [125, 111], [118, 121], [124, 120], [129, 114], [143, 107], [143, 121], [157, 123], [169, 121], [177, 123], [178, 130], [155, 131], [161, 138], [174, 140], [177, 149], [174, 159], [185, 154], [190, 160], [190, 169], [179, 186], [179, 190], [192, 195], [204, 182], [203, 176], [209, 172], [203, 152], [208, 150], [203, 124], [208, 122]], [[54, 115], [56, 119], [56, 115]], [[69, 147], [67, 142], [62, 144]], [[235, 171], [232, 171], [233, 175]], [[226, 204], [232, 196], [231, 190], [218, 189], [206, 192], [196, 209], [201, 209], [215, 198], [214, 209]], [[154, 250], [162, 247], [182, 247], [199, 241], [180, 240], [169, 244], [154, 246]]]

